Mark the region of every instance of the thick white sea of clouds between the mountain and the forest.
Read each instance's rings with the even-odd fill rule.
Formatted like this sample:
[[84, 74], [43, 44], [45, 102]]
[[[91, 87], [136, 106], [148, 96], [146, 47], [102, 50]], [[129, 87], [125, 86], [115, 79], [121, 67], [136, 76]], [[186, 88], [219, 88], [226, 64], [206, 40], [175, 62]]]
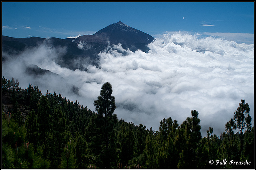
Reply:
[[[49, 93], [56, 91], [92, 111], [102, 85], [109, 82], [116, 98], [114, 113], [119, 119], [158, 130], [163, 118], [176, 119], [180, 125], [191, 116], [191, 110], [196, 110], [202, 136], [209, 127], [220, 136], [241, 99], [245, 99], [254, 126], [254, 44], [176, 32], [156, 38], [148, 47], [148, 53], [133, 53], [114, 45], [109, 52], [99, 53], [100, 67], [85, 63], [87, 71], [72, 71], [54, 62], [65, 48], [41, 45], [2, 63], [2, 76], [18, 79], [23, 89], [31, 83], [42, 94], [47, 89]], [[79, 88], [79, 96], [70, 94], [54, 78], [26, 75], [24, 63], [61, 75]]]

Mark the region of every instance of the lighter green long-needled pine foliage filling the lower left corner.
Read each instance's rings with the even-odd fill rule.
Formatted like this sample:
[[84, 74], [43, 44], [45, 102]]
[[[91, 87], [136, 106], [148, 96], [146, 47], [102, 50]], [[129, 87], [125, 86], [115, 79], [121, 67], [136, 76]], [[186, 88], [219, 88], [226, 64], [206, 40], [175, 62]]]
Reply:
[[[26, 128], [2, 113], [2, 168], [49, 168], [50, 162], [35, 152], [26, 142]], [[15, 142], [16, 141], [16, 142]], [[44, 163], [44, 165], [42, 164]]]

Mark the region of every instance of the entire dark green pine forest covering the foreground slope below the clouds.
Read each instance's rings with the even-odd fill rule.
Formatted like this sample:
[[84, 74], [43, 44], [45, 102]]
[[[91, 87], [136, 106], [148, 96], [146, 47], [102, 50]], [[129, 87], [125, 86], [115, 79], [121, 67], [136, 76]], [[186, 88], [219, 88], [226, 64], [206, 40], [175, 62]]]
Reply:
[[[196, 110], [180, 125], [171, 117], [162, 119], [157, 131], [118, 120], [112, 85], [108, 82], [102, 85], [100, 96], [94, 101], [97, 113], [55, 92], [42, 95], [36, 86], [20, 89], [18, 80], [4, 77], [2, 101], [4, 169], [253, 169], [255, 166], [254, 126], [250, 107], [244, 100], [226, 123], [221, 137], [209, 127], [203, 138]], [[6, 105], [12, 107], [6, 111]], [[223, 159], [251, 163], [209, 164], [209, 160]]]

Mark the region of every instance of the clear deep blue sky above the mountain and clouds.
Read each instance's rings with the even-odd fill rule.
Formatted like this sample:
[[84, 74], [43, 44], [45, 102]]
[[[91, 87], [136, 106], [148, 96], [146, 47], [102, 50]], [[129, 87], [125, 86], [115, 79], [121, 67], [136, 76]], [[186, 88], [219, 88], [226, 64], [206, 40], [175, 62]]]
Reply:
[[2, 2], [2, 35], [68, 38], [122, 21], [165, 32], [254, 34], [254, 2]]

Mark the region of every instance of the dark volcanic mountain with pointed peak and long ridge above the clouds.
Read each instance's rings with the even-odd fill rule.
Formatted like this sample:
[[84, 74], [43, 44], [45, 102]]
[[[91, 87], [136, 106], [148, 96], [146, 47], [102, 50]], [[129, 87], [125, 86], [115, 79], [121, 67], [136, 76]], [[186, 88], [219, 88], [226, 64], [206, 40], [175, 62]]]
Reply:
[[[49, 47], [65, 47], [66, 53], [55, 59], [62, 67], [72, 70], [84, 70], [84, 65], [98, 63], [98, 53], [106, 50], [108, 45], [122, 43], [123, 48], [136, 51], [140, 49], [148, 52], [148, 43], [154, 38], [140, 30], [136, 30], [122, 22], [111, 24], [93, 35], [84, 35], [78, 38], [12, 38], [2, 36], [2, 61], [10, 55], [17, 55], [22, 51], [39, 45]], [[76, 61], [76, 62], [74, 62]], [[79, 62], [78, 62], [79, 61]]]

